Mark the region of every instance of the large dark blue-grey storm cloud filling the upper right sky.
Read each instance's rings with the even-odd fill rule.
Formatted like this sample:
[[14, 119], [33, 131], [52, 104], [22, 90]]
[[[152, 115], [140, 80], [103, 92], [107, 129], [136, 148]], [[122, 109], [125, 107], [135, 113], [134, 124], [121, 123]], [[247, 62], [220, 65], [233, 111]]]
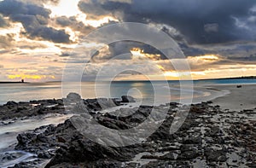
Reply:
[[255, 4], [254, 0], [133, 0], [131, 3], [86, 0], [79, 3], [79, 9], [85, 14], [113, 14], [116, 18], [122, 13], [123, 21], [173, 26], [189, 43], [225, 43], [254, 40], [237, 26], [234, 18], [247, 17]]

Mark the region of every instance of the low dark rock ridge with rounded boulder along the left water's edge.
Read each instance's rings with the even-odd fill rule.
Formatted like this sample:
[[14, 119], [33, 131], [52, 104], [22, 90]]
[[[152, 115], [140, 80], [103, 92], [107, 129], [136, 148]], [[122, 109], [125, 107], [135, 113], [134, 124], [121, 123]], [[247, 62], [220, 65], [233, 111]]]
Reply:
[[[126, 96], [125, 96], [126, 97]], [[134, 101], [134, 99], [129, 96], [125, 100]], [[129, 101], [125, 101], [129, 102]], [[20, 119], [29, 118], [38, 115], [44, 115], [47, 113], [74, 113], [70, 111], [69, 105], [75, 104], [75, 107], [79, 107], [80, 111], [84, 113], [85, 111], [101, 111], [109, 107], [119, 106], [121, 101], [118, 99], [87, 99], [83, 100], [81, 96], [76, 93], [70, 93], [67, 98], [63, 99], [52, 99], [52, 100], [40, 100], [40, 101], [29, 101], [29, 102], [15, 102], [8, 101], [3, 106], [0, 106], [0, 120], [7, 119]], [[64, 105], [66, 107], [64, 107]], [[79, 106], [80, 105], [80, 106]], [[73, 109], [73, 106], [71, 107]], [[75, 110], [79, 112], [79, 109]]]

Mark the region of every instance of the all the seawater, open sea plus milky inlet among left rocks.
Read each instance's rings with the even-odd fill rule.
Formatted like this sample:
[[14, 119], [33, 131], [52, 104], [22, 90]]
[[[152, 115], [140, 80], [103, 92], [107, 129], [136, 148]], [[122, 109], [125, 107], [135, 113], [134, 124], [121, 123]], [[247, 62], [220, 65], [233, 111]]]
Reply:
[[[84, 98], [134, 96], [141, 104], [165, 103], [168, 101], [199, 102], [228, 94], [217, 90], [216, 84], [256, 84], [256, 79], [212, 79], [195, 81], [114, 81], [61, 83], [0, 84], [0, 104], [7, 101], [32, 101], [59, 99], [69, 92], [76, 92]], [[131, 107], [131, 105], [127, 105]], [[72, 115], [71, 115], [72, 116]], [[32, 161], [35, 155], [15, 150], [16, 136], [20, 132], [33, 130], [42, 125], [58, 125], [68, 119], [69, 114], [47, 114], [43, 117], [15, 120], [9, 125], [0, 125], [0, 156], [18, 154], [14, 160], [0, 162], [0, 167], [14, 166], [21, 161]], [[46, 162], [47, 163], [47, 162]], [[41, 165], [40, 165], [41, 166]]]

